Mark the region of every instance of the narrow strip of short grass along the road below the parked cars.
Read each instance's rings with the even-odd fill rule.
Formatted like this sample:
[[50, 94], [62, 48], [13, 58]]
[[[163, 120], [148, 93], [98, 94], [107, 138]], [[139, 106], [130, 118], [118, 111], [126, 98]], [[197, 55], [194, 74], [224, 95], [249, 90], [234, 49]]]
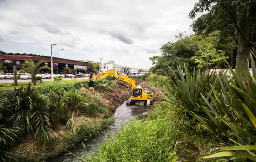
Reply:
[[[67, 83], [77, 83], [77, 82], [83, 82], [83, 81], [88, 81], [88, 79], [81, 79], [81, 80], [67, 80], [67, 81], [59, 81], [61, 84], [67, 84]], [[47, 86], [47, 85], [51, 85], [54, 84], [56, 81], [42, 81], [37, 82], [36, 86], [32, 86], [32, 87], [40, 87], [40, 86]], [[2, 87], [0, 86], [0, 90], [5, 90], [5, 89], [14, 89], [14, 88], [20, 88], [21, 86], [24, 85], [28, 85], [28, 82], [18, 82], [18, 86], [8, 86], [8, 87]], [[12, 85], [13, 83], [1, 83], [1, 85]]]

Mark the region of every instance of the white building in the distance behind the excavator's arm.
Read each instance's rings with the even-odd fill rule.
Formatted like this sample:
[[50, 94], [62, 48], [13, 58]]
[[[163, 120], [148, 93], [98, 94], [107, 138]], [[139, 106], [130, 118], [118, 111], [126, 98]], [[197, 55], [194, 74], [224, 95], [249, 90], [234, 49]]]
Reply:
[[129, 75], [138, 73], [138, 68], [121, 66], [121, 65], [115, 64], [115, 61], [113, 60], [109, 60], [108, 63], [102, 63], [101, 68], [102, 68], [102, 71], [115, 69], [119, 73], [129, 74]]

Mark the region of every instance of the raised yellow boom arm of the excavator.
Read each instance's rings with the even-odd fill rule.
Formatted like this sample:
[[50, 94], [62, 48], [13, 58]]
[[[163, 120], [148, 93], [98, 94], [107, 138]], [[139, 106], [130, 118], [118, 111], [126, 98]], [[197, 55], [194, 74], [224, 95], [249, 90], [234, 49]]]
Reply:
[[135, 81], [129, 77], [127, 77], [126, 75], [122, 75], [121, 73], [115, 71], [115, 69], [111, 69], [111, 70], [108, 70], [108, 71], [104, 71], [102, 73], [99, 73], [97, 75], [95, 74], [92, 74], [90, 75], [90, 81], [93, 81], [93, 80], [97, 80], [97, 79], [100, 79], [100, 78], [104, 78], [106, 76], [115, 76], [116, 78], [122, 80], [122, 81], [126, 81], [128, 82], [131, 86], [132, 86], [132, 90], [137, 87], [136, 84], [135, 84]]

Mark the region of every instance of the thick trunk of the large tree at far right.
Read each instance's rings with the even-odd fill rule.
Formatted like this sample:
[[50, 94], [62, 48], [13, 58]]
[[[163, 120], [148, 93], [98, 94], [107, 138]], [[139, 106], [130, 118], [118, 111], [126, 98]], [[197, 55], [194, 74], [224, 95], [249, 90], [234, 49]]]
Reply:
[[[249, 23], [246, 12], [241, 15], [238, 26], [243, 36], [249, 39]], [[249, 74], [250, 47], [248, 41], [239, 33], [235, 72], [242, 81], [246, 81], [246, 73]]]

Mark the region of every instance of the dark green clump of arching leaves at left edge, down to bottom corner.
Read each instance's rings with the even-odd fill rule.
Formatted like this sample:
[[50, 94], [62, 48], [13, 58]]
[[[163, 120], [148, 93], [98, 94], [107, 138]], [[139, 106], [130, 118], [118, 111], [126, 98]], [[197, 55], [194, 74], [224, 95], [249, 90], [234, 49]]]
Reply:
[[5, 160], [9, 159], [6, 150], [19, 142], [25, 133], [33, 135], [37, 145], [53, 139], [47, 98], [38, 95], [30, 85], [2, 93], [0, 112], [0, 150]]

